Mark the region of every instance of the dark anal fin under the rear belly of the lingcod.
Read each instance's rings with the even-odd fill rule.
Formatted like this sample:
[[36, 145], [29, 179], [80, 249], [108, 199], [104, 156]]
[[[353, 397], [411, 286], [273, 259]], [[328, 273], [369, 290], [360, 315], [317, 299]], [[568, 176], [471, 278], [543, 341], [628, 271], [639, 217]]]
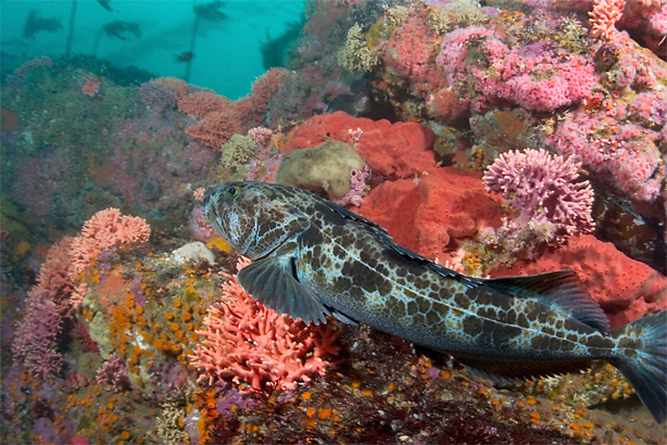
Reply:
[[460, 358], [468, 371], [496, 383], [508, 384], [540, 377], [558, 376], [589, 369], [591, 360], [501, 361], [500, 359]]

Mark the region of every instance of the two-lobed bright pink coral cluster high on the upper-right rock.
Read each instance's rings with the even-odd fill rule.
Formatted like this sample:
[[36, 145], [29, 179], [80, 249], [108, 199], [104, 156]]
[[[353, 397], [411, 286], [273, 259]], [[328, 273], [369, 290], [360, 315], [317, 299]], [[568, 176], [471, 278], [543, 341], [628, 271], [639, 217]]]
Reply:
[[436, 63], [476, 112], [503, 102], [554, 111], [583, 101], [599, 80], [590, 60], [552, 41], [509, 49], [496, 33], [479, 26], [446, 34]]

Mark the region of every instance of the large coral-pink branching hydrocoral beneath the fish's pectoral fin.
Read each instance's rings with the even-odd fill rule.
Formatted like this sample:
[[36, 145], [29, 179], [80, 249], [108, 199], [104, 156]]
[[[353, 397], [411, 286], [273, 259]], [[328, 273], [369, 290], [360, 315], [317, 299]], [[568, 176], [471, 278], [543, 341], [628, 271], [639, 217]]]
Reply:
[[[238, 268], [248, 265], [239, 260]], [[331, 366], [329, 356], [338, 353], [339, 335], [331, 325], [306, 326], [288, 315], [278, 315], [256, 302], [239, 284], [236, 276], [224, 275], [223, 300], [214, 302], [204, 318], [205, 330], [197, 331], [204, 341], [197, 346], [190, 364], [202, 373], [199, 380], [232, 378], [255, 390], [266, 384], [293, 389], [309, 376], [324, 374]]]

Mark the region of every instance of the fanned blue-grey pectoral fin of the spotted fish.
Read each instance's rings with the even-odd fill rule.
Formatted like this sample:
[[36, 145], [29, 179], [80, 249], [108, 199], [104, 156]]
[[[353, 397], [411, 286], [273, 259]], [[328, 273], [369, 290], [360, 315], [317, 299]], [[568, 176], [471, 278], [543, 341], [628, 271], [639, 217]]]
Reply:
[[325, 314], [330, 312], [315, 292], [294, 277], [291, 259], [290, 256], [260, 259], [239, 270], [237, 279], [253, 298], [278, 314], [301, 318], [306, 325], [326, 322]]

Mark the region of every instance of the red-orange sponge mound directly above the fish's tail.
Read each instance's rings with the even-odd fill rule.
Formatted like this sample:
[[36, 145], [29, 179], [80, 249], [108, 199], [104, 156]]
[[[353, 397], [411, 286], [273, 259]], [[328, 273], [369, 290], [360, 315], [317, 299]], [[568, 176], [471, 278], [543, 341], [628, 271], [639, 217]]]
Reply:
[[579, 275], [614, 329], [667, 309], [667, 277], [590, 234], [569, 238], [567, 245], [546, 252], [534, 262], [520, 260], [511, 268], [491, 270], [491, 276], [561, 269], [572, 269]]

